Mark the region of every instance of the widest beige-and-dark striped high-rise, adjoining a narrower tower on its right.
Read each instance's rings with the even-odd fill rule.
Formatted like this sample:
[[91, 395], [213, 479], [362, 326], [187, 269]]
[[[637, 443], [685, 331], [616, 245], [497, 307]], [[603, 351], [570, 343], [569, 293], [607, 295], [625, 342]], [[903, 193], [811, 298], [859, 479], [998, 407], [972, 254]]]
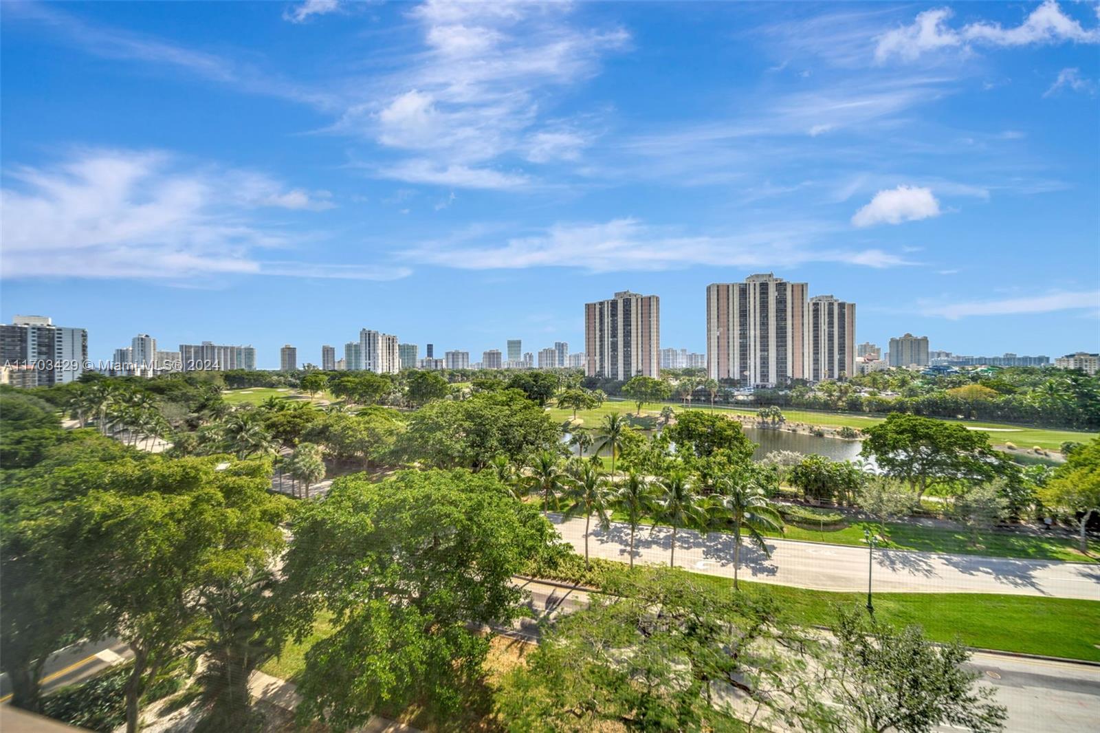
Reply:
[[804, 379], [807, 291], [771, 273], [707, 285], [707, 374], [745, 386]]

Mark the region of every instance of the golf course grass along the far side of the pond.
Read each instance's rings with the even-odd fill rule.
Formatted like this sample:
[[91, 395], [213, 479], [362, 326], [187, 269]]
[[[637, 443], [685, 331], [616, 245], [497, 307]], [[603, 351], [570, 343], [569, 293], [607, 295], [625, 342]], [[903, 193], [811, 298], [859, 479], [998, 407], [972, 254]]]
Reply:
[[[637, 408], [635, 403], [620, 400], [608, 400], [600, 407], [578, 411], [576, 416], [581, 420], [581, 425], [585, 428], [598, 427], [600, 423], [603, 422], [604, 416], [609, 415], [610, 413], [619, 413], [624, 417], [628, 418], [632, 427], [656, 428], [657, 416], [666, 406], [671, 406], [676, 412], [682, 409], [711, 409], [708, 404], [701, 404], [698, 402], [691, 407], [684, 407], [683, 405], [676, 405], [673, 403], [651, 402], [642, 405], [642, 416], [637, 418], [634, 416], [635, 409]], [[757, 412], [757, 408], [755, 407], [726, 407], [722, 405], [715, 405], [714, 409], [722, 409], [741, 415], [756, 415]], [[551, 407], [549, 409], [549, 415], [556, 423], [561, 423], [566, 418], [572, 418], [573, 411], [561, 407]], [[823, 425], [829, 427], [847, 426], [853, 428], [870, 427], [871, 425], [877, 425], [886, 419], [886, 417], [877, 415], [855, 415], [851, 413], [826, 413], [805, 409], [784, 409], [783, 415], [787, 417], [789, 423], [805, 423], [807, 425]], [[1062, 444], [1066, 440], [1088, 442], [1097, 436], [1094, 433], [1052, 430], [1047, 428], [1008, 425], [1002, 423], [980, 423], [976, 420], [945, 422], [963, 423], [967, 427], [974, 428], [990, 428], [991, 431], [989, 433], [989, 441], [991, 444], [1001, 445], [1009, 441], [1015, 444], [1019, 448], [1032, 448], [1034, 446], [1038, 446], [1040, 448], [1058, 450], [1058, 448], [1062, 447]]]

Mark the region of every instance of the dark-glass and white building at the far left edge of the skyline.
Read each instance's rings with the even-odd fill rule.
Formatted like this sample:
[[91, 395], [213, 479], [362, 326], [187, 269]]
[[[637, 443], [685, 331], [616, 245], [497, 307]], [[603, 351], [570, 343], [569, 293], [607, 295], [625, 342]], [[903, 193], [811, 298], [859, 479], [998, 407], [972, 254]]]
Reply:
[[[19, 370], [20, 386], [75, 382], [88, 361], [88, 331], [54, 326], [45, 316], [15, 316], [0, 325], [0, 365]], [[33, 382], [33, 384], [32, 384]]]

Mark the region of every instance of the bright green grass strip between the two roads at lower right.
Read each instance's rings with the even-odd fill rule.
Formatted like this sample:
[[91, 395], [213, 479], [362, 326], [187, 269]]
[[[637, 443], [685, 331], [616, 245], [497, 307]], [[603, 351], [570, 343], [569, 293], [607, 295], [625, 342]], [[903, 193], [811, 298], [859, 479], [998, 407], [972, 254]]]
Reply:
[[[692, 573], [701, 583], [734, 592], [729, 578]], [[769, 593], [795, 624], [827, 626], [836, 604], [867, 603], [866, 593], [832, 593], [741, 582]], [[920, 624], [928, 638], [1002, 652], [1100, 661], [1100, 601], [987, 593], [876, 593], [875, 614], [899, 625]]]

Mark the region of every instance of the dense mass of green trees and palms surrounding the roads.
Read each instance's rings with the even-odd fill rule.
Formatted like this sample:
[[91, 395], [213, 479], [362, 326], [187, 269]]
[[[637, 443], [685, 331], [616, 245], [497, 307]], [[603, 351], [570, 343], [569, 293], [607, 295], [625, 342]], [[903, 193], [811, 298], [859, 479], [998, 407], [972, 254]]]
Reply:
[[[776, 500], [783, 484], [880, 521], [926, 492], [946, 493], [974, 527], [1034, 511], [1042, 499], [1079, 521], [1082, 538], [1100, 505], [1094, 444], [1070, 450], [1065, 469], [1040, 484], [985, 434], [913, 415], [868, 430], [865, 452], [886, 473], [872, 477], [816, 457], [754, 462], [754, 444], [721, 412], [669, 408], [652, 436], [609, 414], [600, 425], [573, 426], [579, 453], [586, 444], [594, 455], [571, 456], [544, 405], [598, 403], [602, 392], [576, 374], [295, 379], [332, 398], [230, 405], [224, 375], [211, 374], [0, 391], [0, 664], [14, 704], [42, 709], [52, 652], [114, 635], [135, 655], [121, 690], [130, 731], [163, 677], [186, 676], [199, 659], [204, 730], [250, 730], [257, 713], [249, 675], [323, 621], [331, 633], [306, 653], [296, 680], [300, 722], [346, 730], [410, 704], [449, 720], [475, 700], [485, 704], [477, 696], [486, 693], [488, 641], [479, 630], [524, 613], [512, 578], [550, 575], [575, 558], [544, 516], [550, 510], [584, 518], [586, 565], [590, 530], [613, 512], [626, 517], [631, 566], [644, 526], [672, 528], [670, 566], [678, 530], [732, 533], [736, 587], [741, 540], [767, 553], [766, 534], [782, 529]], [[622, 391], [647, 401], [666, 389], [652, 380]], [[59, 412], [78, 427], [64, 429]], [[150, 452], [151, 436], [170, 445]], [[338, 478], [323, 501], [279, 493], [289, 477], [292, 493], [308, 500], [309, 486], [329, 473]], [[531, 674], [517, 671], [490, 692], [502, 724], [557, 730], [580, 714], [637, 727], [721, 727], [736, 714], [715, 702], [724, 693], [714, 686], [733, 685], [766, 715], [805, 725], [825, 716], [833, 730], [860, 730], [860, 704], [873, 705], [884, 677], [846, 686], [851, 704], [840, 710], [791, 704], [839, 693], [833, 678], [805, 672], [846, 669], [860, 656], [881, 663], [876, 674], [904, 678], [914, 708], [925, 710], [913, 713], [919, 724], [899, 730], [943, 722], [943, 710], [960, 701], [980, 712], [966, 719], [976, 730], [998, 730], [1003, 718], [967, 697], [965, 653], [936, 650], [919, 633], [898, 636], [842, 617], [835, 631], [844, 643], [815, 647], [810, 663], [803, 655], [814, 645], [768, 604], [715, 595], [675, 571], [610, 582], [619, 583], [618, 598], [549, 627], [552, 643], [540, 647]], [[653, 603], [669, 609], [659, 627], [647, 610]], [[910, 667], [891, 667], [860, 637], [905, 645]], [[629, 665], [579, 652], [579, 639], [591, 638], [631, 649]], [[927, 663], [921, 678], [914, 659]], [[653, 685], [637, 683], [636, 665]], [[592, 680], [606, 685], [593, 689]], [[936, 705], [917, 704], [924, 699]], [[964, 720], [961, 709], [955, 713]]]

